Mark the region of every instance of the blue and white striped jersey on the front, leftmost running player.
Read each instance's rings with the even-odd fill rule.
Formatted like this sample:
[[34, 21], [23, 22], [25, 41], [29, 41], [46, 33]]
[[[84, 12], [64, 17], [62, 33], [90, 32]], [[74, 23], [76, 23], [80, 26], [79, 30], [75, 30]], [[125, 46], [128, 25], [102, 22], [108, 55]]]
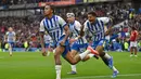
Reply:
[[57, 42], [64, 35], [64, 26], [66, 22], [57, 15], [53, 15], [51, 18], [44, 17], [40, 23], [40, 31], [48, 31], [53, 39], [53, 42]]

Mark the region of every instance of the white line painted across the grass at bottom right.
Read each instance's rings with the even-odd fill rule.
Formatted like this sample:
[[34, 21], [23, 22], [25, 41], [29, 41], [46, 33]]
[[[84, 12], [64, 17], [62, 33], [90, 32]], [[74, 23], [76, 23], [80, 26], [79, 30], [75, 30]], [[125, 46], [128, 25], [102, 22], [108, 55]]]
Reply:
[[[127, 75], [118, 75], [117, 77], [131, 77], [131, 76], [141, 76], [141, 74], [127, 74]], [[88, 79], [88, 78], [107, 78], [111, 76], [88, 76], [88, 77], [74, 77], [74, 78], [62, 78], [62, 79]]]

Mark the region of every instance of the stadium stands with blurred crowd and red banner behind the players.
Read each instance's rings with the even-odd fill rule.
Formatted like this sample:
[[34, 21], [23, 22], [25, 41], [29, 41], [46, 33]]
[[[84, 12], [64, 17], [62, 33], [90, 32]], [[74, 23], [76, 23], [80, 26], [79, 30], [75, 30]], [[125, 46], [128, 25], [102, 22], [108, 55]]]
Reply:
[[[141, 9], [138, 0], [1, 0], [0, 1], [0, 48], [5, 49], [3, 41], [8, 27], [13, 27], [16, 32], [14, 51], [24, 51], [24, 42], [28, 42], [29, 51], [38, 51], [39, 24], [43, 18], [43, 6], [53, 4], [55, 14], [66, 19], [66, 13], [73, 12], [76, 18], [84, 23], [87, 12], [95, 11], [99, 17], [108, 16], [113, 19], [111, 42], [106, 43], [105, 50], [129, 50], [129, 31], [134, 26], [141, 30]], [[128, 43], [125, 45], [125, 43]], [[138, 43], [141, 50], [141, 42]], [[20, 49], [21, 48], [21, 49]]]

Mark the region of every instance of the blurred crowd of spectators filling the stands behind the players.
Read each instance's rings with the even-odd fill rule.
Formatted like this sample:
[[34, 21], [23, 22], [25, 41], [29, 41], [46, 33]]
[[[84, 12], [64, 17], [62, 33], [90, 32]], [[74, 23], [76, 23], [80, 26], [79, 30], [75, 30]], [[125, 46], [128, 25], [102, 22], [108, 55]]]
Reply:
[[[89, 11], [95, 11], [99, 17], [111, 17], [113, 19], [113, 25], [118, 26], [117, 28], [113, 29], [113, 32], [111, 34], [111, 41], [108, 41], [106, 44], [105, 50], [124, 50], [125, 43], [127, 44], [128, 42], [129, 44], [129, 31], [130, 27], [132, 26], [136, 27], [139, 32], [141, 32], [141, 14], [136, 14], [136, 11], [132, 9], [130, 3], [104, 3], [55, 8], [55, 14], [62, 16], [64, 19], [66, 19], [65, 16], [67, 12], [75, 13], [76, 19], [78, 19], [81, 24], [87, 19], [87, 12]], [[16, 32], [15, 48], [24, 48], [25, 41], [28, 41], [30, 48], [40, 48], [38, 29], [42, 18], [42, 14], [25, 17], [0, 17], [0, 40], [2, 41], [2, 44], [5, 43], [3, 38], [8, 31], [8, 28], [13, 27], [14, 31]], [[120, 25], [119, 23], [121, 22], [124, 23]]]

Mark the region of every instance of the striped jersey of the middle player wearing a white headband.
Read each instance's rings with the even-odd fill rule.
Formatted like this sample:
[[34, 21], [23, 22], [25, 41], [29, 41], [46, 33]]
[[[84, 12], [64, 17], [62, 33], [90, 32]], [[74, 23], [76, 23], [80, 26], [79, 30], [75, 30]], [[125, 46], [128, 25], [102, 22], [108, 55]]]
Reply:
[[[73, 34], [72, 38], [76, 38], [79, 36], [80, 28], [81, 28], [81, 24], [78, 21], [75, 21], [73, 24], [69, 24], [69, 30]], [[78, 39], [77, 43], [78, 44], [87, 43], [85, 36], [82, 38]]]

